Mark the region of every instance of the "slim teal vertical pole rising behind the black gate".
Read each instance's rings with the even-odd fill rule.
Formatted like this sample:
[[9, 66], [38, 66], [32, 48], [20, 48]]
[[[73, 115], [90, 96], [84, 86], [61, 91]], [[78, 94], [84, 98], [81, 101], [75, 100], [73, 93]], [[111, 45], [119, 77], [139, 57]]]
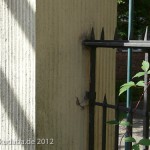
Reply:
[[[129, 17], [128, 17], [128, 40], [132, 38], [132, 28], [133, 28], [133, 0], [129, 0]], [[127, 62], [127, 82], [131, 81], [131, 62], [132, 62], [132, 49], [128, 48], [128, 62]], [[131, 91], [127, 90], [127, 100], [126, 107], [131, 108]], [[132, 122], [130, 115], [127, 114], [127, 120]], [[132, 133], [132, 128], [127, 128], [126, 136]], [[125, 143], [125, 150], [131, 149], [132, 143]]]

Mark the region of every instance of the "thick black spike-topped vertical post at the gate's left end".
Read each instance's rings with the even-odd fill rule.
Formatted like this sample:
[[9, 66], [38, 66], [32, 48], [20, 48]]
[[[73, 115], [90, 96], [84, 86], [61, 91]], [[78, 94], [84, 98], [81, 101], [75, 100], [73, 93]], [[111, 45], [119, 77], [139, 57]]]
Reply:
[[[92, 28], [91, 40], [95, 39]], [[89, 91], [89, 150], [94, 150], [94, 107], [95, 107], [95, 69], [96, 69], [96, 48], [90, 50], [90, 91]]]

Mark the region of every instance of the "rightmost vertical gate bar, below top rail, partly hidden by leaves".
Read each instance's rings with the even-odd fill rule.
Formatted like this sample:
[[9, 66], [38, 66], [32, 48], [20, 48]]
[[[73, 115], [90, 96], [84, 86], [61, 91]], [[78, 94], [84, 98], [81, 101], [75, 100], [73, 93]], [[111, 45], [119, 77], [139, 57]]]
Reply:
[[[145, 61], [149, 60], [149, 54], [145, 53]], [[148, 75], [145, 74], [144, 82], [148, 82]], [[147, 89], [147, 85], [144, 87], [144, 91]], [[144, 93], [144, 119], [143, 119], [143, 138], [149, 139], [149, 115], [148, 115], [148, 91]], [[145, 146], [144, 150], [148, 150], [148, 146]]]

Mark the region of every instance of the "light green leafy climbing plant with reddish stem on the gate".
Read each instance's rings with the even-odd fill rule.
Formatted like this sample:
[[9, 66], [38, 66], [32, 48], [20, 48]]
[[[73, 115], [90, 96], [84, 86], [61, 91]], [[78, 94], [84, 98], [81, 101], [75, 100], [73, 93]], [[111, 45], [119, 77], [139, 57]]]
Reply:
[[[133, 76], [132, 79], [140, 78], [140, 77], [144, 76], [145, 74], [147, 74], [147, 75], [150, 74], [150, 69], [149, 68], [150, 68], [149, 62], [143, 61], [142, 62], [142, 66], [141, 66], [142, 71], [138, 72], [135, 76]], [[121, 85], [120, 90], [119, 90], [119, 96], [122, 93], [126, 92], [129, 88], [146, 87], [143, 90], [143, 93], [140, 95], [140, 97], [139, 97], [139, 99], [138, 99], [138, 101], [136, 103], [136, 106], [133, 109], [133, 115], [136, 112], [137, 107], [139, 106], [140, 102], [142, 101], [144, 93], [147, 91], [149, 86], [150, 86], [150, 81], [145, 83], [143, 80], [139, 80], [136, 83], [134, 81], [130, 81], [130, 82], [127, 82], [127, 83]], [[125, 116], [123, 116], [123, 117], [121, 116], [119, 121], [111, 120], [111, 121], [108, 121], [107, 123], [111, 124], [111, 125], [120, 125], [120, 126], [123, 126], [123, 127], [130, 127], [130, 126], [132, 126], [132, 124], [129, 121], [124, 120], [124, 118], [125, 118]], [[123, 135], [123, 137], [124, 136], [125, 136], [125, 134]], [[125, 142], [132, 142], [132, 143], [134, 143], [133, 146], [132, 146], [132, 150], [140, 150], [139, 145], [144, 145], [144, 146], [149, 146], [150, 145], [150, 140], [149, 139], [144, 139], [144, 138], [137, 142], [134, 137], [127, 136], [127, 137], [124, 138], [124, 140], [125, 140]]]

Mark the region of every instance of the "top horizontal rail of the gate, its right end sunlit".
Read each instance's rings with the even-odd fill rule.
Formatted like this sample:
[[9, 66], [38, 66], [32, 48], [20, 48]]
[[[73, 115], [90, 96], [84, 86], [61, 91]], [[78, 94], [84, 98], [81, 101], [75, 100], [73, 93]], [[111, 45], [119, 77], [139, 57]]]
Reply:
[[150, 41], [143, 40], [84, 40], [84, 46], [106, 48], [150, 48]]

